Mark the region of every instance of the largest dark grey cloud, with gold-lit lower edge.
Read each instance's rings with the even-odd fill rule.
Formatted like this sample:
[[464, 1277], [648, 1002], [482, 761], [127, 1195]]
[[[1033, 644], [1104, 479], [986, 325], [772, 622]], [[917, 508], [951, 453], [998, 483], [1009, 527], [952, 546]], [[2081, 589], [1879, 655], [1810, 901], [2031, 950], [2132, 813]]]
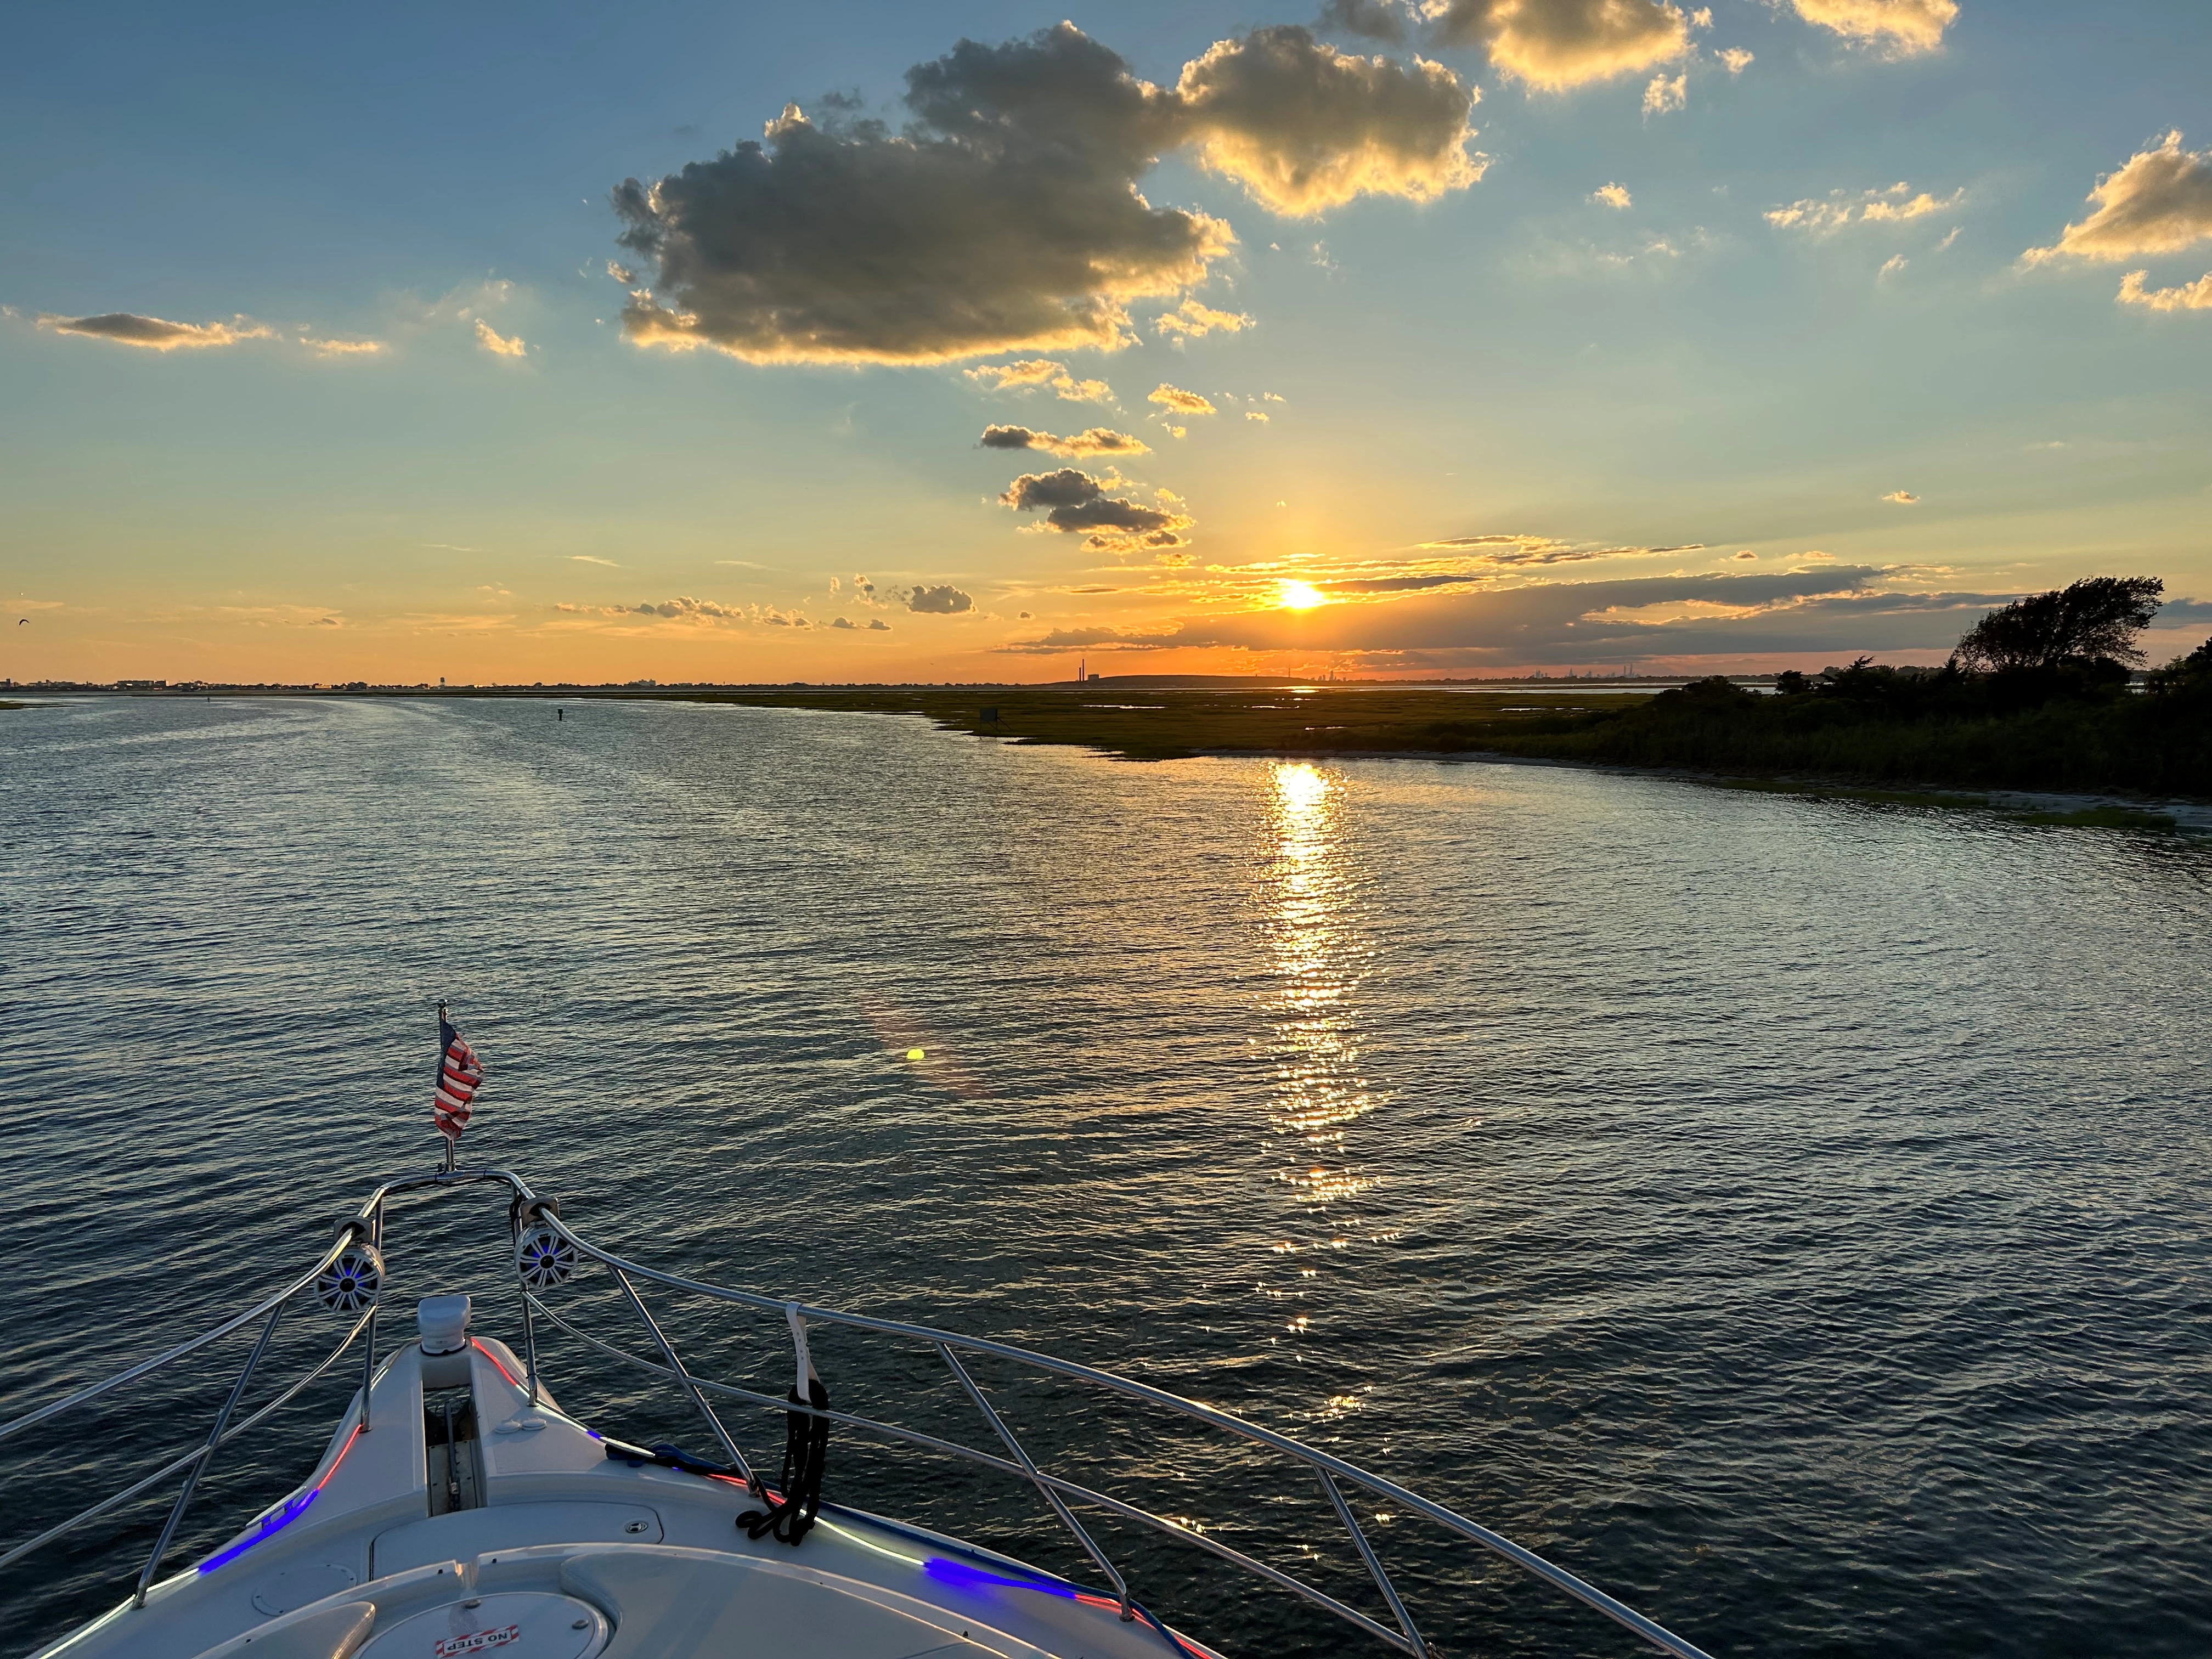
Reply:
[[657, 263], [624, 325], [754, 363], [1113, 347], [1126, 301], [1181, 292], [1234, 241], [1137, 195], [1164, 97], [1057, 24], [909, 69], [902, 133], [787, 106], [761, 142], [615, 188], [622, 246]]

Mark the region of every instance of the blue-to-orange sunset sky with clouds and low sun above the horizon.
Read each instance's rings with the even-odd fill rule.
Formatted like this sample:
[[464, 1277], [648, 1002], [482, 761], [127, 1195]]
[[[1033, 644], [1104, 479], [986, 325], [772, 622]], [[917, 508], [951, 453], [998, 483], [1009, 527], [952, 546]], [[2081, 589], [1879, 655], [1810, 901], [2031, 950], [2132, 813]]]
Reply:
[[2212, 7], [1310, 7], [20, 13], [0, 677], [2212, 633]]

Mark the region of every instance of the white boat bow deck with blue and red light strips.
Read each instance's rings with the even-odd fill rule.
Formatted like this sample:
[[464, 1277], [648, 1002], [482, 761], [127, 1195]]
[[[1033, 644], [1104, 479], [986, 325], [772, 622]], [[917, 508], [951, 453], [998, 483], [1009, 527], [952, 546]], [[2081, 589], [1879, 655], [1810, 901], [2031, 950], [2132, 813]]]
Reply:
[[611, 1458], [522, 1376], [495, 1340], [409, 1343], [369, 1429], [356, 1396], [303, 1486], [40, 1659], [1212, 1657], [1115, 1597], [874, 1515], [825, 1506], [799, 1548], [754, 1542], [741, 1482]]

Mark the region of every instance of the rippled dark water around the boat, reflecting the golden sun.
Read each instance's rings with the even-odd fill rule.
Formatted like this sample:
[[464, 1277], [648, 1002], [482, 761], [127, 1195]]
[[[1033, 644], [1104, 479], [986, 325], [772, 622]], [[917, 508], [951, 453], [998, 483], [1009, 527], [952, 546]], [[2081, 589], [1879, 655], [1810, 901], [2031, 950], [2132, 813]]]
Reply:
[[[2201, 843], [675, 703], [86, 701], [0, 714], [0, 1416], [427, 1166], [442, 995], [491, 1071], [471, 1152], [648, 1261], [1133, 1369], [1714, 1652], [2212, 1646]], [[403, 1217], [394, 1301], [493, 1281], [502, 1234], [489, 1199]], [[774, 1329], [670, 1321], [781, 1391]], [[818, 1352], [841, 1402], [960, 1422], [925, 1365]], [[602, 1427], [703, 1440], [546, 1358]], [[226, 1385], [11, 1444], [0, 1546]], [[195, 1542], [345, 1387], [226, 1453]], [[1082, 1478], [1340, 1555], [1296, 1478], [1004, 1398]], [[830, 1486], [1077, 1571], [989, 1480], [845, 1438]], [[9, 1568], [0, 1637], [113, 1601], [155, 1522]], [[1365, 1650], [1108, 1537], [1237, 1655]], [[1630, 1650], [1378, 1537], [1453, 1652]]]

